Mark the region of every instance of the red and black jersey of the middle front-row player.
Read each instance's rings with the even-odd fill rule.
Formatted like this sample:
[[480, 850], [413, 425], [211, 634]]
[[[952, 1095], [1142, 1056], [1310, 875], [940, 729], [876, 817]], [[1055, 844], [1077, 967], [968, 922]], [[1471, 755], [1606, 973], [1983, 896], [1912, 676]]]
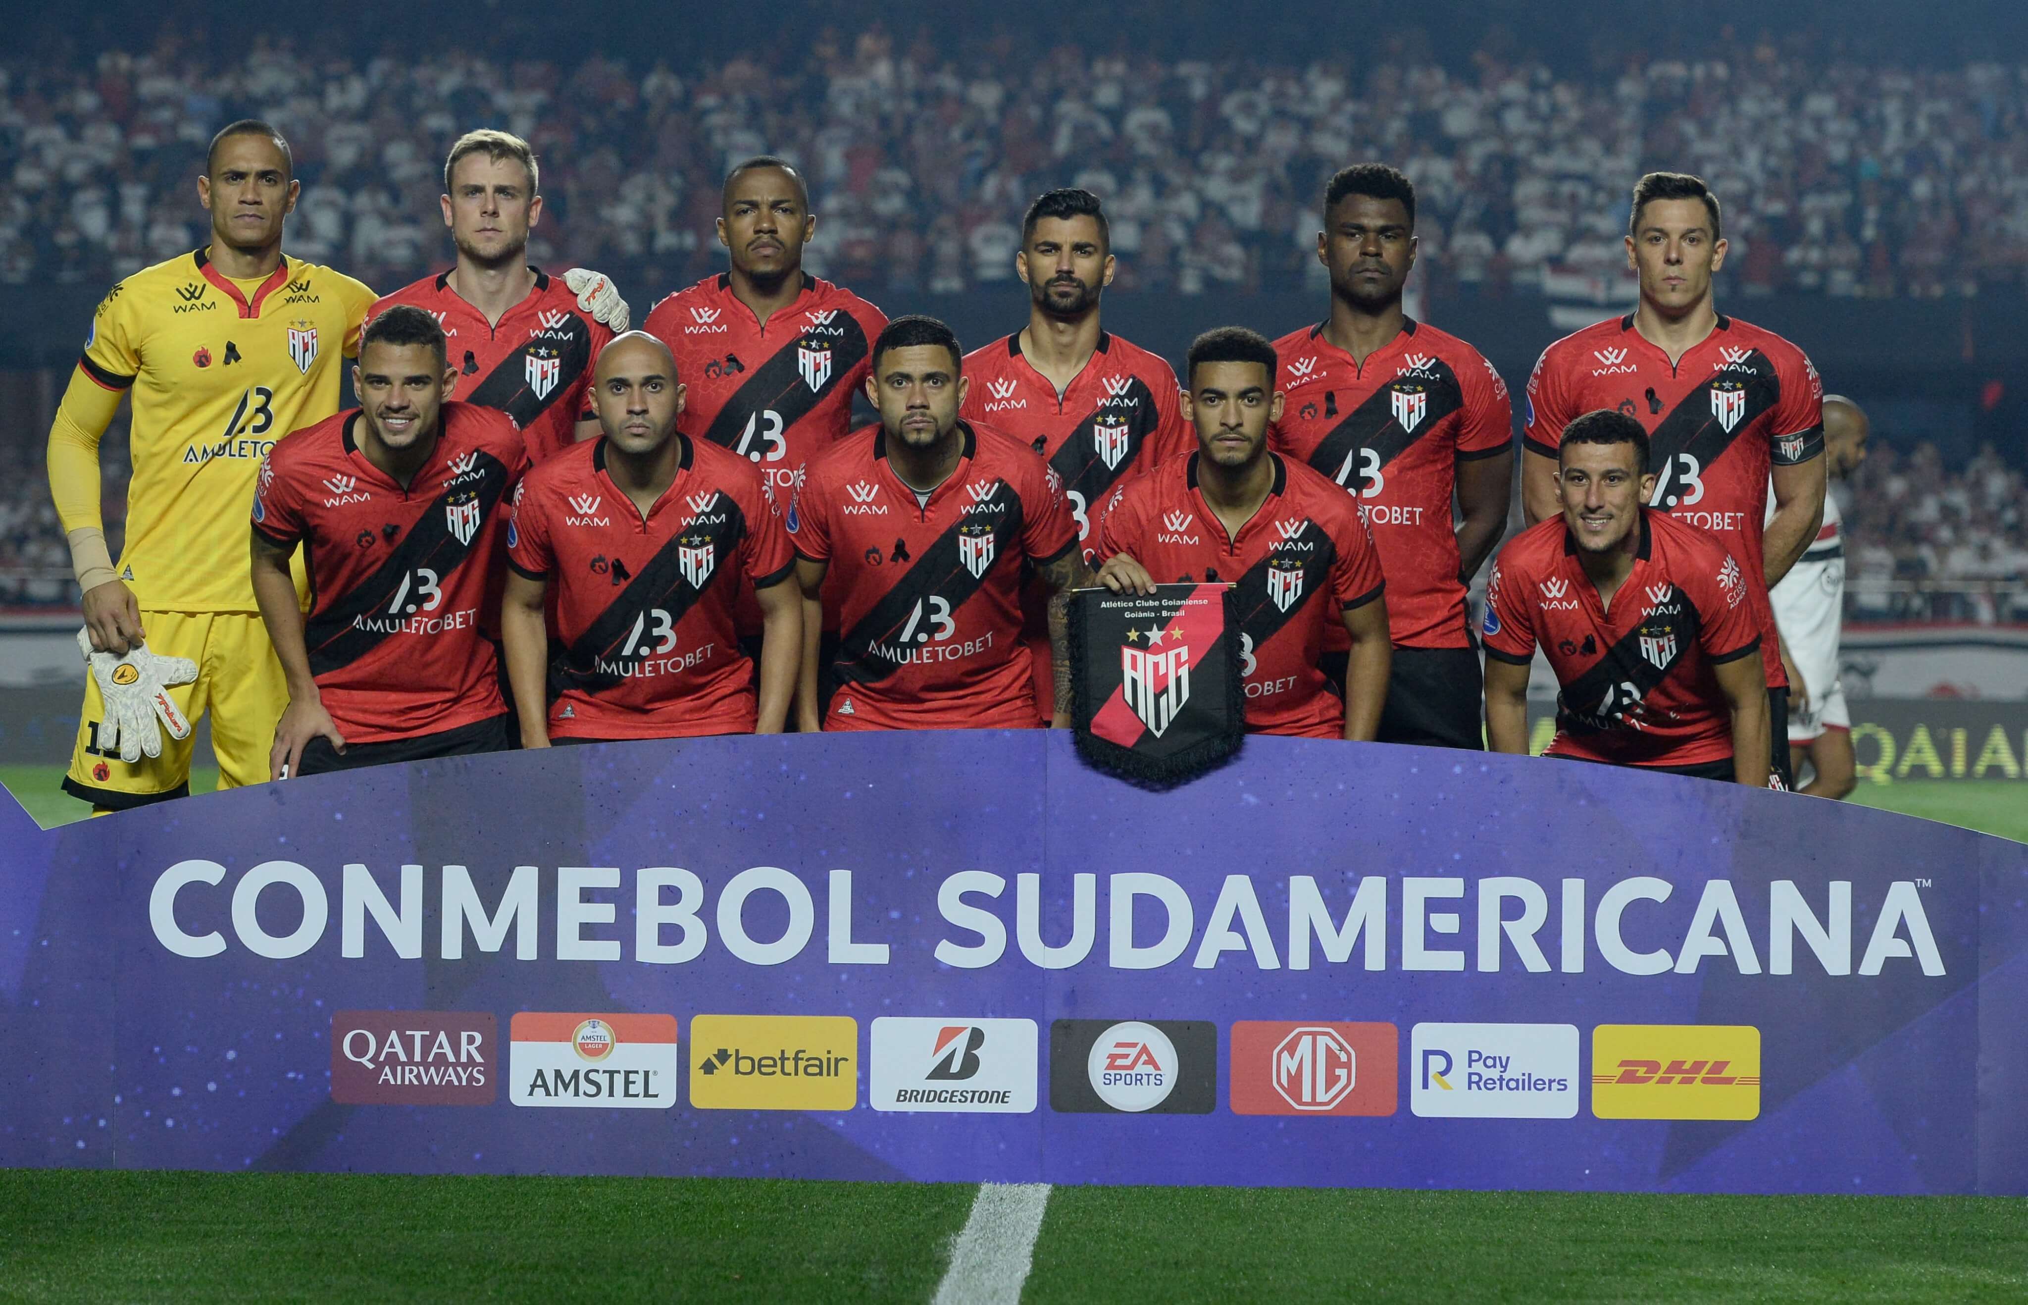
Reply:
[[1055, 471], [1024, 444], [977, 422], [959, 434], [957, 469], [927, 503], [894, 475], [878, 426], [807, 467], [787, 524], [795, 552], [829, 566], [825, 625], [840, 649], [823, 729], [1038, 720], [1022, 568], [1077, 548], [1077, 524]]

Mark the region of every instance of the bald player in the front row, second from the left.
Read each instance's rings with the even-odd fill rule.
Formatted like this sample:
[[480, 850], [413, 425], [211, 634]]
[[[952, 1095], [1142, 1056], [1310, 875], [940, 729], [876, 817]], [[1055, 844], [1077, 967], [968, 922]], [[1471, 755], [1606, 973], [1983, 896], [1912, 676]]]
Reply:
[[[521, 745], [779, 735], [803, 597], [775, 495], [752, 463], [675, 428], [683, 386], [659, 339], [631, 331], [596, 367], [600, 438], [529, 473], [507, 528], [501, 635]], [[736, 576], [767, 623], [758, 698], [732, 637]]]

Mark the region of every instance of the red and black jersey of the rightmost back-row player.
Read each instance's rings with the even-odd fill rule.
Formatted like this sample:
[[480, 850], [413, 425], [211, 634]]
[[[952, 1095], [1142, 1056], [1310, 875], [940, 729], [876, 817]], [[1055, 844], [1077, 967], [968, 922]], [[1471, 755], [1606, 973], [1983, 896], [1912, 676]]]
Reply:
[[1564, 426], [1614, 408], [1647, 426], [1651, 507], [1710, 530], [1746, 572], [1768, 686], [1789, 680], [1762, 566], [1768, 467], [1823, 453], [1823, 380], [1801, 349], [1736, 317], [1720, 317], [1669, 361], [1635, 331], [1633, 313], [1566, 335], [1527, 382], [1525, 447], [1555, 457]]

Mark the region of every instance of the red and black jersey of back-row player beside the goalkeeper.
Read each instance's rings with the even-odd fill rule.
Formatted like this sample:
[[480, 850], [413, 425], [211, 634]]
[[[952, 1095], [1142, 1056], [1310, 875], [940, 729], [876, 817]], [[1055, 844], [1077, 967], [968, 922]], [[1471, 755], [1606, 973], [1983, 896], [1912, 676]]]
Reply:
[[535, 288], [499, 325], [450, 288], [450, 272], [383, 296], [367, 321], [395, 304], [422, 308], [444, 327], [450, 367], [458, 373], [452, 394], [511, 416], [533, 461], [578, 440], [578, 422], [590, 416], [592, 361], [612, 331], [578, 308], [578, 296], [562, 280], [535, 272]]

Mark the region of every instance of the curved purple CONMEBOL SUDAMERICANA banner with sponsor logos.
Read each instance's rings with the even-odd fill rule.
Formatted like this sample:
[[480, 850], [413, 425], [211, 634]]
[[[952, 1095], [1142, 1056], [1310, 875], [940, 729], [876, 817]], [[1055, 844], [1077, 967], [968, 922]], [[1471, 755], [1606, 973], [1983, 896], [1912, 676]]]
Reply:
[[2028, 846], [1831, 802], [1024, 731], [0, 808], [0, 1165], [2028, 1193]]

